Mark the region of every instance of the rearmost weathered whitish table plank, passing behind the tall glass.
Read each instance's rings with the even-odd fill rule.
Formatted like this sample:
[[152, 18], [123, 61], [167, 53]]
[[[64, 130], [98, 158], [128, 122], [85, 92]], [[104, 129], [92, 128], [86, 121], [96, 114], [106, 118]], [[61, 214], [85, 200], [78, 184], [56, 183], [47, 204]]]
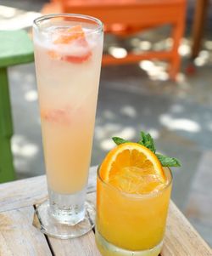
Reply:
[[[96, 190], [97, 167], [90, 168], [87, 191]], [[38, 204], [47, 198], [46, 176], [21, 179], [0, 185], [0, 213]]]

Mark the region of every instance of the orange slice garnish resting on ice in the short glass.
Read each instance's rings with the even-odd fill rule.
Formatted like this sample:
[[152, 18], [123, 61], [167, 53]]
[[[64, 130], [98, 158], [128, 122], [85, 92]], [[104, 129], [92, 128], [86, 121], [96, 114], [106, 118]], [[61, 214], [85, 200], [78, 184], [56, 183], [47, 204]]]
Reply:
[[154, 191], [166, 182], [158, 157], [147, 147], [132, 142], [109, 151], [99, 172], [105, 182], [132, 194]]

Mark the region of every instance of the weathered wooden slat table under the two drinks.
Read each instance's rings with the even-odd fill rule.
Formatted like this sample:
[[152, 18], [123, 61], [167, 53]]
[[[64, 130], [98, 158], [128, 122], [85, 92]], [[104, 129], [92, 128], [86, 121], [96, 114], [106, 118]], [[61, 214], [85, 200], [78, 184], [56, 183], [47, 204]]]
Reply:
[[[91, 168], [88, 196], [95, 200], [96, 168]], [[72, 240], [43, 235], [33, 225], [36, 204], [47, 197], [46, 177], [39, 176], [0, 185], [1, 256], [100, 256], [94, 233]], [[170, 202], [162, 256], [211, 256], [212, 251], [176, 205]]]

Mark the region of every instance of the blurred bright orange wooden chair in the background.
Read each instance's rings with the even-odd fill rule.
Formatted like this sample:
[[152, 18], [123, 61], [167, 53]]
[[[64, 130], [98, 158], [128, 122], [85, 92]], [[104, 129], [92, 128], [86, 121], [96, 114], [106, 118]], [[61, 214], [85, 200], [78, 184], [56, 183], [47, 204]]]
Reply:
[[116, 59], [103, 55], [103, 65], [133, 63], [139, 60], [156, 59], [170, 62], [170, 77], [175, 78], [180, 68], [178, 48], [183, 37], [186, 15], [186, 0], [52, 0], [59, 11], [87, 14], [102, 20], [105, 31], [119, 36], [129, 36], [144, 29], [170, 24], [173, 47], [170, 51], [129, 53]]

